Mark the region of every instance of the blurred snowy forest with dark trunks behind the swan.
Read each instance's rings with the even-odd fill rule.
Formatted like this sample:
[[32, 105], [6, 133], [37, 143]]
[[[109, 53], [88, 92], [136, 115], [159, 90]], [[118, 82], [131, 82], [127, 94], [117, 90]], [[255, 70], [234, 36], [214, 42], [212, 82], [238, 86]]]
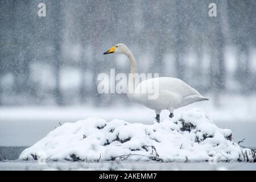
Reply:
[[123, 94], [97, 93], [98, 73], [130, 71], [126, 57], [102, 55], [117, 43], [139, 73], [181, 78], [217, 98], [255, 94], [255, 18], [254, 0], [1, 0], [0, 104], [125, 104]]

